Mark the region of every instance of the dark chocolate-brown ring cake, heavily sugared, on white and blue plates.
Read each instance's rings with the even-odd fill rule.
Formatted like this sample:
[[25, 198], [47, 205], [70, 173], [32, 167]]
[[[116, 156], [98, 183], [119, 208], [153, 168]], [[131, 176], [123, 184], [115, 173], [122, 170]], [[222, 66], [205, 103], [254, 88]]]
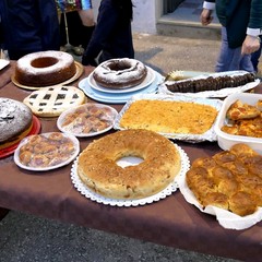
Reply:
[[93, 73], [96, 83], [108, 88], [128, 88], [139, 85], [147, 74], [146, 67], [129, 58], [110, 59], [100, 63]]

